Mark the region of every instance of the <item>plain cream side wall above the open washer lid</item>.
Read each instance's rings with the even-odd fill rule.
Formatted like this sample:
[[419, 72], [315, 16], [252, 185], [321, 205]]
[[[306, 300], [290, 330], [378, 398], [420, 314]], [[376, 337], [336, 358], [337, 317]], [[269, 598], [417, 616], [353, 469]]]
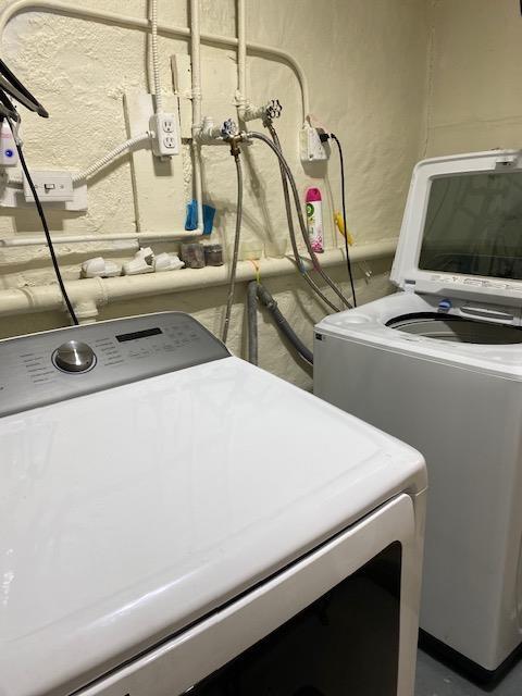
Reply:
[[522, 144], [519, 0], [431, 0], [428, 156]]

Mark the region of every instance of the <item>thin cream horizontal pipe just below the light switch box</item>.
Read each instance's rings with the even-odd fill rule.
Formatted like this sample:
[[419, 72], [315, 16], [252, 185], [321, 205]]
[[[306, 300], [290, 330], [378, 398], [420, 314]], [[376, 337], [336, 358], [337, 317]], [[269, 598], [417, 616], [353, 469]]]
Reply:
[[[184, 229], [183, 232], [116, 232], [114, 234], [77, 234], [77, 235], [57, 235], [51, 233], [52, 244], [84, 244], [96, 243], [104, 244], [105, 241], [136, 241], [136, 243], [153, 243], [153, 241], [179, 241], [183, 239], [192, 239], [201, 237], [202, 233], [197, 229]], [[16, 237], [4, 237], [0, 239], [1, 247], [40, 247], [47, 246], [46, 238], [41, 235], [28, 236], [20, 235]]]

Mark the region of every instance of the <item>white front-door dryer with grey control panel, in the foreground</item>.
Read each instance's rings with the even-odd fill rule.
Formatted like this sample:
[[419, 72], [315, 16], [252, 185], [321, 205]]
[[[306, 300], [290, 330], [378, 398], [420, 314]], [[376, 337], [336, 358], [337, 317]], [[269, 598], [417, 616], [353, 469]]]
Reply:
[[422, 457], [190, 316], [0, 341], [0, 452], [2, 696], [412, 695]]

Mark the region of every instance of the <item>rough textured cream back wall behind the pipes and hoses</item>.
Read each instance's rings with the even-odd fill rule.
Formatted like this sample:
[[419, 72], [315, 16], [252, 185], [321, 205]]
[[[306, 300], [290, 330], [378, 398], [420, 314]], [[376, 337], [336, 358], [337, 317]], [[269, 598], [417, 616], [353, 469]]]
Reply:
[[[0, 9], [5, 4], [0, 1]], [[145, 0], [83, 0], [83, 4], [135, 16], [147, 13]], [[185, 26], [186, 4], [160, 0], [161, 21]], [[201, 7], [204, 32], [235, 34], [233, 0], [202, 0]], [[249, 40], [284, 47], [299, 60], [310, 82], [311, 111], [344, 144], [348, 219], [358, 244], [398, 234], [411, 167], [419, 159], [424, 138], [426, 27], [423, 0], [248, 2]], [[82, 169], [125, 139], [122, 98], [130, 89], [147, 89], [146, 48], [142, 32], [51, 13], [24, 13], [9, 24], [2, 57], [51, 113], [49, 121], [24, 113], [23, 135], [30, 166]], [[160, 50], [163, 85], [172, 89], [170, 57], [187, 52], [187, 42], [161, 37]], [[203, 113], [216, 119], [234, 115], [234, 52], [203, 47], [202, 61]], [[278, 97], [284, 104], [281, 137], [290, 164], [299, 174], [301, 191], [312, 183], [326, 191], [326, 169], [319, 167], [306, 176], [297, 159], [300, 102], [294, 74], [286, 65], [258, 57], [249, 58], [248, 65], [251, 99], [262, 102]], [[206, 150], [203, 164], [206, 199], [219, 210], [214, 236], [229, 248], [235, 208], [233, 161], [226, 148], [214, 148]], [[286, 244], [283, 199], [274, 164], [273, 156], [260, 144], [246, 152], [244, 256], [263, 249], [271, 253]], [[335, 154], [328, 170], [339, 201]], [[173, 190], [172, 195], [179, 206], [185, 204], [186, 190]], [[158, 206], [162, 206], [161, 200]], [[128, 159], [123, 158], [91, 181], [87, 214], [52, 212], [49, 219], [57, 232], [134, 231]], [[165, 220], [165, 228], [169, 222]], [[39, 224], [33, 211], [0, 210], [1, 236], [37, 231]], [[331, 231], [330, 244], [334, 243], [339, 240]], [[65, 277], [78, 277], [80, 261], [100, 252], [125, 259], [134, 249], [124, 245], [113, 245], [111, 249], [98, 245], [61, 247]], [[362, 301], [389, 290], [388, 265], [372, 264], [369, 284], [362, 279], [361, 269], [357, 269]], [[334, 276], [340, 281], [346, 272], [338, 269]], [[45, 248], [0, 251], [0, 287], [48, 282], [53, 282], [53, 275]], [[311, 343], [313, 323], [324, 310], [310, 297], [307, 286], [297, 275], [268, 282], [268, 286], [296, 331]], [[219, 331], [225, 293], [225, 288], [209, 288], [114, 304], [103, 310], [101, 319], [173, 308], [189, 311]], [[231, 346], [238, 353], [245, 348], [243, 298], [240, 287], [231, 332]], [[62, 325], [64, 316], [25, 315], [1, 323], [0, 335], [7, 336]], [[299, 385], [310, 385], [308, 372], [281, 344], [268, 319], [261, 320], [260, 364]]]

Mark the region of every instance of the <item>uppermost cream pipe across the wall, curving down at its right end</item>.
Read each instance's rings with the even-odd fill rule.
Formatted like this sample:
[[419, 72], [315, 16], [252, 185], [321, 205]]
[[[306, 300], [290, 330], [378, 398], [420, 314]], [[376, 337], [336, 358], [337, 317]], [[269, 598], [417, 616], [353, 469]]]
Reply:
[[[62, 14], [65, 16], [77, 17], [80, 20], [90, 20], [92, 22], [102, 22], [105, 24], [114, 24], [116, 26], [123, 26], [134, 29], [142, 29], [148, 32], [150, 29], [150, 23], [147, 18], [129, 17], [117, 14], [116, 12], [107, 12], [104, 10], [95, 10], [92, 8], [80, 7], [67, 2], [60, 2], [59, 0], [15, 0], [9, 4], [2, 12], [0, 12], [0, 37], [3, 35], [7, 24], [12, 17], [21, 12], [28, 11], [45, 11], [53, 12], [55, 14]], [[176, 38], [189, 38], [190, 29], [187, 27], [173, 26], [169, 24], [158, 23], [158, 32], [163, 36], [173, 36]], [[201, 34], [200, 40], [210, 46], [222, 46], [228, 49], [234, 49], [238, 46], [238, 39], [235, 37], [220, 36], [217, 34]], [[279, 62], [286, 63], [291, 67], [296, 77], [299, 80], [301, 88], [301, 104], [302, 104], [302, 121], [307, 121], [310, 113], [310, 92], [308, 88], [307, 77], [302, 67], [286, 51], [262, 44], [247, 42], [247, 50], [251, 54], [262, 57], [273, 57]]]

